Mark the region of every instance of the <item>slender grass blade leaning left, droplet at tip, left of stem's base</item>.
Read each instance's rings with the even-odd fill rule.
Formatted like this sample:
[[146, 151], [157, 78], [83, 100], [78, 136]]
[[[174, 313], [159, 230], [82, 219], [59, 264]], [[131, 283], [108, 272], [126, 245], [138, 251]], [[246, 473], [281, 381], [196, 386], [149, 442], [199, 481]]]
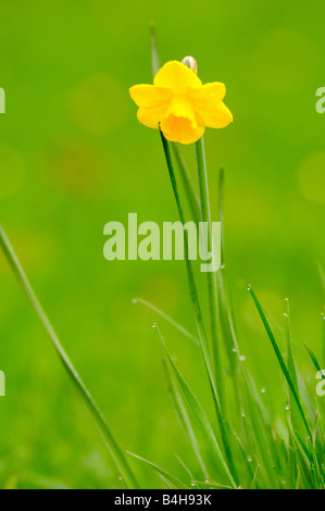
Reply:
[[[157, 327], [157, 325], [154, 325]], [[166, 345], [163, 340], [163, 337], [159, 331], [159, 328], [157, 327], [157, 331], [158, 331], [158, 334], [159, 334], [159, 337], [160, 337], [160, 340], [161, 340], [161, 345], [166, 353], [166, 357], [167, 357], [167, 360], [171, 364], [171, 367], [173, 369], [173, 372], [179, 383], [179, 386], [183, 390], [183, 394], [188, 402], [188, 406], [190, 407], [191, 411], [193, 412], [193, 415], [197, 419], [198, 421], [198, 424], [199, 426], [201, 427], [207, 440], [208, 440], [208, 444], [213, 452], [213, 454], [215, 456], [215, 458], [217, 459], [221, 468], [223, 469], [223, 472], [225, 474], [225, 476], [227, 477], [227, 481], [229, 482], [229, 484], [232, 485], [233, 488], [236, 488], [236, 483], [233, 478], [233, 475], [227, 466], [227, 463], [225, 462], [224, 460], [224, 457], [222, 454], [222, 451], [218, 447], [218, 444], [216, 441], [216, 438], [214, 436], [214, 433], [213, 433], [213, 429], [211, 427], [211, 424], [205, 415], [205, 412], [204, 410], [202, 409], [201, 404], [199, 403], [198, 399], [196, 398], [196, 396], [193, 395], [193, 392], [190, 390], [189, 386], [187, 385], [187, 383], [185, 382], [184, 377], [182, 376], [182, 374], [179, 373], [178, 369], [176, 367], [167, 348], [166, 348]]]

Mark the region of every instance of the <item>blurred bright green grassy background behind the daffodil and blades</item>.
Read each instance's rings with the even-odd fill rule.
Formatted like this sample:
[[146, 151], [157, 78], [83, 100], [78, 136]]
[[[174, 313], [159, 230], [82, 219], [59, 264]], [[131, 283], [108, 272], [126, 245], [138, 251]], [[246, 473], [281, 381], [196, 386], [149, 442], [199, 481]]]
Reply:
[[[208, 407], [195, 346], [132, 299], [193, 331], [182, 262], [108, 262], [107, 222], [177, 220], [158, 133], [139, 125], [128, 87], [151, 83], [148, 25], [162, 62], [192, 54], [226, 84], [234, 123], [205, 136], [212, 204], [226, 171], [225, 232], [238, 332], [258, 385], [279, 372], [247, 283], [278, 324], [290, 297], [301, 348], [321, 353], [324, 302], [325, 4], [258, 0], [0, 1], [0, 222], [58, 334], [124, 449], [177, 472], [189, 464], [161, 366], [157, 321]], [[193, 149], [184, 150], [192, 175]], [[215, 215], [215, 220], [217, 216]], [[34, 311], [0, 257], [0, 485], [123, 487]], [[232, 403], [229, 403], [232, 406]], [[278, 419], [278, 417], [274, 417]], [[279, 417], [280, 420], [280, 417]], [[145, 487], [161, 483], [134, 460]], [[176, 469], [175, 469], [176, 468]]]

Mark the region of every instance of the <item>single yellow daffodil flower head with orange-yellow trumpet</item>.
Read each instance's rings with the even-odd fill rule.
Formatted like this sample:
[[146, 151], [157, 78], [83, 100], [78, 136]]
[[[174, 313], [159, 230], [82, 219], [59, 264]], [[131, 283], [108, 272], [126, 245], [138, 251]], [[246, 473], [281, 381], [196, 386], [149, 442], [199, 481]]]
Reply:
[[224, 84], [202, 85], [187, 65], [178, 61], [164, 64], [153, 85], [135, 85], [129, 94], [138, 109], [138, 121], [145, 126], [162, 130], [165, 138], [180, 144], [196, 142], [205, 126], [222, 128], [233, 121], [223, 103]]

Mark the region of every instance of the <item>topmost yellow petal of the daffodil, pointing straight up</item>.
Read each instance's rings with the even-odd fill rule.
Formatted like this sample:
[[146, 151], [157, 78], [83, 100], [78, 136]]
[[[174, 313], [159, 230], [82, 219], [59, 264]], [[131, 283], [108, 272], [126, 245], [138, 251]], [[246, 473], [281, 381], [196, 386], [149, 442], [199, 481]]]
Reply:
[[178, 61], [171, 61], [159, 70], [153, 84], [159, 87], [167, 87], [175, 94], [182, 94], [188, 87], [200, 87], [202, 82], [187, 65]]

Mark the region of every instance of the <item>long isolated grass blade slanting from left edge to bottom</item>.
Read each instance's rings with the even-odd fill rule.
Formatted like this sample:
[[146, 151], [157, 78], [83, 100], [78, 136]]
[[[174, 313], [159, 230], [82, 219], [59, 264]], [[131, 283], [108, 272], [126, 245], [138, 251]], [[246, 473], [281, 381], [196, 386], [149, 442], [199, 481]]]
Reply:
[[123, 454], [120, 447], [117, 446], [113, 435], [111, 434], [107, 422], [99, 411], [92, 396], [90, 395], [89, 390], [87, 389], [86, 385], [82, 381], [80, 376], [78, 375], [76, 369], [74, 367], [72, 361], [70, 360], [67, 353], [65, 352], [64, 348], [62, 347], [59, 337], [57, 336], [49, 319], [47, 317], [43, 309], [41, 308], [27, 277], [26, 274], [12, 248], [10, 245], [9, 239], [5, 236], [3, 228], [0, 226], [0, 246], [4, 252], [7, 260], [9, 261], [20, 285], [22, 286], [23, 290], [25, 291], [27, 298], [29, 299], [34, 310], [36, 311], [40, 322], [42, 323], [45, 329], [50, 336], [50, 339], [59, 354], [61, 362], [63, 363], [68, 376], [71, 377], [72, 382], [75, 384], [79, 395], [84, 399], [87, 409], [90, 412], [90, 415], [96, 422], [96, 425], [111, 453], [115, 465], [121, 473], [123, 479], [127, 484], [129, 488], [138, 488], [137, 481]]

